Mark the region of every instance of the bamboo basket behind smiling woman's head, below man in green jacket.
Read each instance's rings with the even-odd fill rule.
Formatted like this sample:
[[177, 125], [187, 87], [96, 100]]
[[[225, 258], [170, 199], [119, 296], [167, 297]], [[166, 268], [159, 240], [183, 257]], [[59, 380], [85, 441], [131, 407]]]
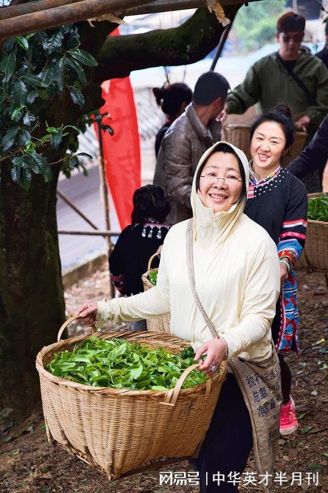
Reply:
[[[249, 130], [251, 125], [246, 125], [242, 123], [229, 123], [223, 125], [222, 138], [227, 142], [230, 142], [239, 149], [242, 149], [247, 159], [250, 161], [250, 140], [249, 140]], [[281, 158], [281, 166], [285, 167], [290, 163], [299, 153], [303, 150], [305, 141], [308, 134], [306, 132], [296, 132], [295, 140], [290, 150], [286, 155]]]

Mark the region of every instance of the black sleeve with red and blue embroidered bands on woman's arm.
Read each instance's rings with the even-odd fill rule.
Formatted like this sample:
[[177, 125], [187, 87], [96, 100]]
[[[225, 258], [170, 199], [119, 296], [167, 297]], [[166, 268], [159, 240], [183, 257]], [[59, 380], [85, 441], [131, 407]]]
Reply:
[[278, 257], [287, 257], [293, 267], [300, 257], [306, 238], [308, 197], [302, 182], [292, 180], [285, 217], [278, 242]]

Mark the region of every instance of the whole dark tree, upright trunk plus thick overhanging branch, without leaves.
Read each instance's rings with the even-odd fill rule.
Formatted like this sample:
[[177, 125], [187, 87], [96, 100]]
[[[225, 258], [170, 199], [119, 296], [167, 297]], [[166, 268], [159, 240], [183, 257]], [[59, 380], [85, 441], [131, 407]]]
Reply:
[[[226, 14], [235, 8], [227, 6]], [[79, 23], [83, 49], [100, 61], [95, 70], [86, 70], [95, 84], [135, 69], [197, 61], [216, 46], [223, 29], [206, 9], [186, 25], [141, 34], [136, 45], [135, 36], [107, 38], [114, 27], [107, 21], [97, 22], [94, 28]], [[83, 95], [82, 109], [69, 94], [39, 104], [33, 113], [40, 127], [46, 119], [51, 126], [79, 124], [84, 113], [102, 106], [98, 85], [90, 83]], [[61, 150], [48, 152], [49, 162], [64, 155], [68, 139]], [[55, 342], [65, 320], [56, 219], [59, 171], [60, 165], [53, 166], [49, 183], [33, 173], [25, 192], [12, 181], [10, 163], [0, 164], [0, 408], [14, 408], [20, 418], [39, 396], [36, 354]]]

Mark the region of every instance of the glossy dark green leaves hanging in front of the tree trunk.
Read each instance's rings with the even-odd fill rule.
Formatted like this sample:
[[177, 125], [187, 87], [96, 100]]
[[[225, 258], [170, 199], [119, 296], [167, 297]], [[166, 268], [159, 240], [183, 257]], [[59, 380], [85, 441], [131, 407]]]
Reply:
[[[0, 161], [10, 158], [12, 179], [28, 190], [32, 173], [52, 179], [44, 150], [59, 149], [64, 137], [80, 129], [41, 124], [36, 115], [45, 102], [70, 94], [73, 103], [84, 105], [82, 87], [87, 84], [84, 66], [95, 67], [92, 55], [80, 49], [79, 31], [73, 24], [8, 39], [0, 58]], [[46, 128], [44, 128], [46, 126]], [[65, 131], [66, 129], [69, 131]], [[66, 155], [69, 169], [78, 158]], [[90, 157], [90, 156], [89, 156]]]

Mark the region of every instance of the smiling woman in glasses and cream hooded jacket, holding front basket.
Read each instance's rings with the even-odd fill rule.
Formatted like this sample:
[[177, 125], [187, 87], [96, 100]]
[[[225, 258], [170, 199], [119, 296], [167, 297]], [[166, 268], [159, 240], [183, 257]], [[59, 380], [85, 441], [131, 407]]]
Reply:
[[[170, 313], [171, 333], [190, 341], [196, 360], [207, 354], [201, 371], [213, 375], [222, 361], [228, 359], [229, 372], [210, 428], [198, 458], [192, 461], [200, 473], [201, 493], [238, 492], [228, 475], [233, 471], [242, 474], [253, 441], [255, 460], [260, 461], [263, 447], [270, 454], [272, 467], [275, 459], [274, 446], [266, 440], [259, 445], [254, 426], [256, 418], [262, 420], [261, 426], [266, 426], [268, 414], [264, 417], [261, 409], [268, 412], [272, 395], [263, 395], [267, 399], [265, 405], [264, 400], [263, 405], [255, 404], [256, 416], [252, 411], [251, 417], [240, 375], [233, 370], [238, 360], [253, 362], [262, 372], [264, 361], [276, 359], [270, 326], [280, 287], [279, 262], [269, 235], [243, 213], [248, 171], [246, 156], [240, 149], [227, 142], [217, 142], [200, 159], [192, 184], [195, 289], [219, 338], [213, 337], [189, 283], [186, 253], [189, 220], [174, 225], [166, 235], [157, 285], [153, 289], [130, 298], [85, 302], [77, 310], [85, 325], [94, 320], [122, 322]], [[280, 402], [273, 404], [277, 431]], [[215, 482], [213, 475], [218, 471], [225, 475], [225, 482]]]

